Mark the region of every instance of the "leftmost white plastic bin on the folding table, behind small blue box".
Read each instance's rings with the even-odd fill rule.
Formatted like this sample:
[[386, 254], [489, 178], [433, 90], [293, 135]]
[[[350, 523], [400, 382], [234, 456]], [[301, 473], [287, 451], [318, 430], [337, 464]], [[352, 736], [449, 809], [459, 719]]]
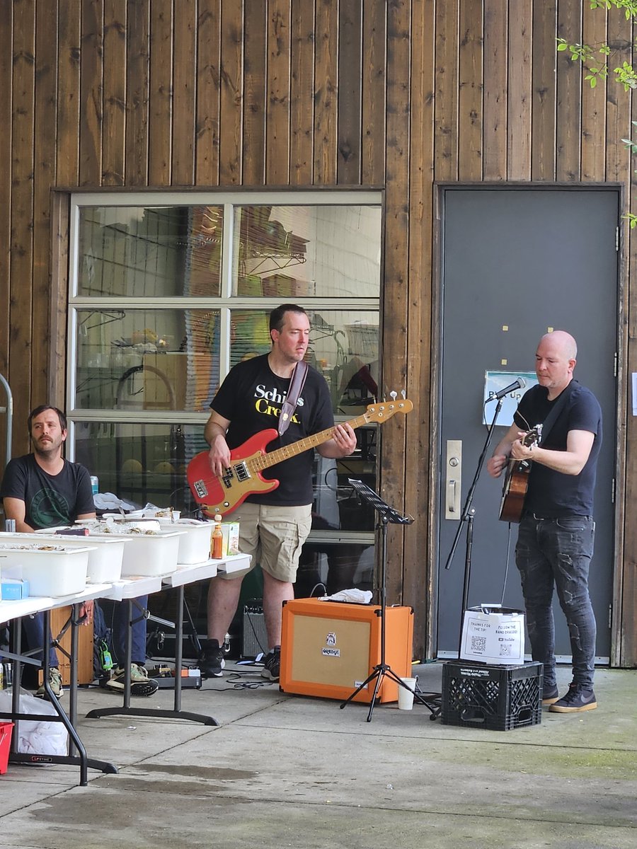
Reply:
[[[32, 537], [31, 537], [32, 538]], [[14, 543], [17, 545], [28, 543]], [[37, 545], [38, 548], [35, 546]], [[0, 569], [3, 565], [22, 566], [22, 576], [29, 582], [32, 596], [60, 596], [81, 593], [87, 586], [90, 543], [81, 548], [63, 548], [48, 540], [34, 540], [31, 548], [11, 548], [0, 537]]]

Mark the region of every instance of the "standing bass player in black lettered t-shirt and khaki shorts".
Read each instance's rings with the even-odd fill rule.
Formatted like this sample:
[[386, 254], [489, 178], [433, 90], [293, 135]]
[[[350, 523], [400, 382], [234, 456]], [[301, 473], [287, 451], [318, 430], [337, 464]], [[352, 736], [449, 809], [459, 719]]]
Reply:
[[[283, 304], [270, 314], [272, 349], [261, 357], [232, 368], [211, 402], [205, 436], [210, 445], [213, 475], [221, 477], [230, 465], [230, 451], [261, 430], [277, 428], [281, 408], [290, 391], [296, 364], [304, 361], [310, 322], [302, 306]], [[291, 445], [304, 437], [334, 427], [330, 392], [321, 374], [310, 366], [296, 409], [283, 436], [273, 447]], [[356, 447], [349, 424], [337, 424], [334, 435], [317, 447], [323, 457], [342, 458]], [[302, 545], [312, 525], [313, 450], [294, 454], [273, 465], [268, 478], [279, 481], [269, 492], [249, 495], [232, 518], [240, 523], [240, 551], [251, 554], [251, 566], [263, 573], [263, 616], [268, 655], [262, 675], [279, 680], [282, 604], [294, 598], [293, 583]], [[240, 599], [247, 571], [221, 573], [208, 589], [208, 639], [200, 655], [206, 677], [223, 675], [223, 639]]]

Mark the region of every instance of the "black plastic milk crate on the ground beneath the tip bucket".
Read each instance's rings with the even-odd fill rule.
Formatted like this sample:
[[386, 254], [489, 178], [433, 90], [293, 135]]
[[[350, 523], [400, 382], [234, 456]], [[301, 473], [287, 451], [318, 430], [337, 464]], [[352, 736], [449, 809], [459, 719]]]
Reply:
[[471, 661], [443, 664], [443, 725], [494, 731], [542, 722], [544, 665], [488, 666]]

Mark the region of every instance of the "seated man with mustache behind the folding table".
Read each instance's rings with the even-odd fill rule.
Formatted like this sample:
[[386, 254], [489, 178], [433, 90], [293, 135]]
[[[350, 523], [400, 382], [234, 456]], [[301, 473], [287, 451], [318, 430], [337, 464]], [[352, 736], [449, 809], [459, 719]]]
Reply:
[[[31, 412], [28, 429], [33, 453], [10, 460], [0, 485], [4, 514], [7, 519], [15, 520], [15, 530], [29, 533], [41, 528], [72, 525], [78, 519], [94, 519], [93, 491], [87, 469], [62, 457], [66, 440], [65, 414], [44, 404]], [[146, 599], [141, 598], [139, 602], [145, 605]], [[123, 646], [127, 628], [126, 605], [117, 604], [116, 607], [119, 610], [114, 617], [114, 632], [117, 643]], [[90, 622], [93, 602], [84, 604], [84, 614], [87, 623]], [[37, 614], [25, 616], [22, 620], [28, 648], [40, 649], [41, 661], [45, 643], [43, 618], [42, 614]], [[144, 668], [145, 644], [146, 620], [142, 619], [132, 628], [133, 649], [144, 646], [142, 654], [132, 655], [135, 658], [131, 664], [132, 695], [152, 695], [157, 689], [157, 683], [149, 681]], [[122, 659], [124, 655], [118, 656]], [[111, 688], [123, 689], [123, 678], [124, 670], [116, 668], [109, 682]], [[49, 684], [56, 696], [62, 695], [58, 655], [53, 648], [49, 654]], [[42, 685], [37, 695], [44, 694]]]

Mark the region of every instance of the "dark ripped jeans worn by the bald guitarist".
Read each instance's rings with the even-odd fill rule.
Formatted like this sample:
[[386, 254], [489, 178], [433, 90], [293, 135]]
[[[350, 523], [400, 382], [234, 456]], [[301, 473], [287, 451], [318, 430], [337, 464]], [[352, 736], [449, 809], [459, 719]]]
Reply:
[[589, 516], [520, 522], [516, 564], [527, 609], [528, 638], [534, 661], [544, 663], [544, 686], [555, 685], [553, 588], [567, 617], [571, 638], [573, 682], [593, 687], [595, 614], [589, 597], [589, 565], [595, 522]]

